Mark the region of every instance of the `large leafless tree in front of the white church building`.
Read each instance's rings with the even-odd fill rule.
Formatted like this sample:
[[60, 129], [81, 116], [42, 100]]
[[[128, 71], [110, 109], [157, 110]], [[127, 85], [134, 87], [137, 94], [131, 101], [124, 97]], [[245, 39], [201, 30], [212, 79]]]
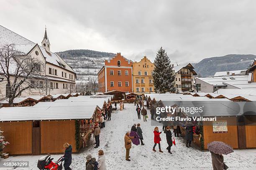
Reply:
[[1, 84], [6, 88], [3, 96], [10, 107], [13, 107], [13, 100], [22, 92], [49, 88], [45, 62], [16, 50], [14, 44], [0, 46], [0, 73], [4, 77]]

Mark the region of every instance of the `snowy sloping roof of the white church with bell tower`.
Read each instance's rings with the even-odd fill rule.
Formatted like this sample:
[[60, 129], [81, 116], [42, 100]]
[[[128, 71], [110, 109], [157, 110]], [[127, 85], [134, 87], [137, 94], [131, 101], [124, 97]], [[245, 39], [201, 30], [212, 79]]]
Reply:
[[[35, 42], [32, 42], [0, 25], [0, 46], [3, 46], [5, 44], [15, 44], [16, 50], [24, 52], [26, 54], [37, 45]], [[41, 47], [40, 45], [38, 45], [38, 47], [46, 58], [46, 62], [58, 66], [60, 66], [59, 63], [61, 63], [66, 66], [67, 70], [74, 72], [74, 70], [69, 67], [69, 65], [61, 59], [61, 57], [59, 57], [59, 55], [54, 52], [46, 52], [45, 48]]]

